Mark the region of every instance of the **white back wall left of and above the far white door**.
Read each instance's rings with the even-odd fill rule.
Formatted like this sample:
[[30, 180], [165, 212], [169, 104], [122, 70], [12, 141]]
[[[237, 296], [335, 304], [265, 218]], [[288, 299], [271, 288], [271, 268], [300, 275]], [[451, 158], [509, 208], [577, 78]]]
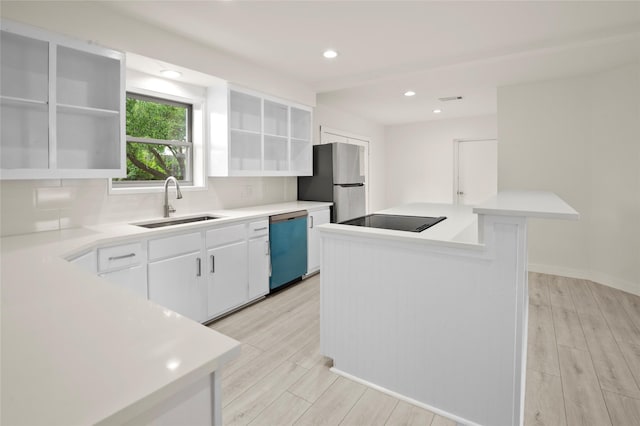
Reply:
[[386, 127], [387, 203], [452, 203], [453, 140], [496, 135], [495, 115]]

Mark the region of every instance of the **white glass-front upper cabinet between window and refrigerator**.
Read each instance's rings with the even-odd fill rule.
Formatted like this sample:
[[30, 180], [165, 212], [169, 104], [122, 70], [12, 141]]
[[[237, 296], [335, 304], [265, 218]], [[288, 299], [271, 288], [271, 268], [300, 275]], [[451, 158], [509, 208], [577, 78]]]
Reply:
[[313, 174], [310, 107], [226, 85], [208, 97], [210, 176]]

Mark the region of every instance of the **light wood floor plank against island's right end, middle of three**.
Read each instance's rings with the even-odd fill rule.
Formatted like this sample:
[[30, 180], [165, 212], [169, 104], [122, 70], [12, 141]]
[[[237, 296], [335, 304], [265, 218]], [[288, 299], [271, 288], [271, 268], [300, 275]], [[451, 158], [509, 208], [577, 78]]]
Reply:
[[529, 305], [528, 334], [528, 368], [559, 376], [558, 351], [549, 306]]

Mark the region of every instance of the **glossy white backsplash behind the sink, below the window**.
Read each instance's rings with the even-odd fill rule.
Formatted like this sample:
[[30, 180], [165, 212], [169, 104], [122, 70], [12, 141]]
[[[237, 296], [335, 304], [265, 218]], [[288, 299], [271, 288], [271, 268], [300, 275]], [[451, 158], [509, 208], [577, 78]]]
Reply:
[[[162, 216], [164, 194], [108, 193], [107, 179], [0, 181], [0, 235], [129, 222]], [[176, 215], [233, 209], [297, 198], [295, 177], [209, 178], [206, 190], [183, 190]]]

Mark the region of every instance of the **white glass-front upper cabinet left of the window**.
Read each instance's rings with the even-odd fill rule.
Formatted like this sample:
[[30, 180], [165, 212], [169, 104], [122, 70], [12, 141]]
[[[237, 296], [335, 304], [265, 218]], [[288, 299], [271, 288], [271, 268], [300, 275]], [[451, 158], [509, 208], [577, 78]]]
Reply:
[[122, 177], [124, 54], [2, 21], [0, 177]]

